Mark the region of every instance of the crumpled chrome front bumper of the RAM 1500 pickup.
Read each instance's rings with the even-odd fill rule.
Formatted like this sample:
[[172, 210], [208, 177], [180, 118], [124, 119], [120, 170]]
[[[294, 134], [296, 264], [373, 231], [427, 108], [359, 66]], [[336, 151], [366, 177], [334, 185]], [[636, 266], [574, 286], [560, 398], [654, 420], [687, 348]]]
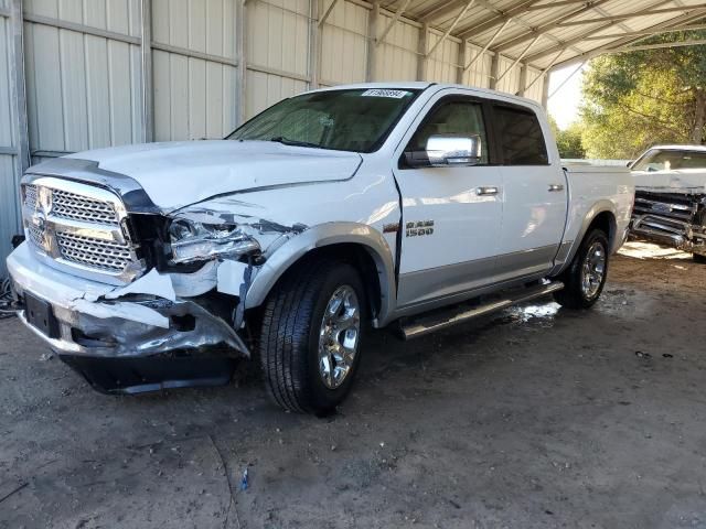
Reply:
[[[57, 271], [34, 259], [26, 242], [8, 258], [20, 320], [97, 389], [135, 392], [220, 384], [233, 359], [249, 357], [223, 319], [190, 299], [130, 293], [103, 298], [110, 285]], [[23, 301], [51, 306], [54, 331], [30, 324]], [[89, 301], [96, 300], [96, 301]], [[161, 367], [160, 367], [161, 366]], [[205, 373], [204, 373], [205, 371]]]

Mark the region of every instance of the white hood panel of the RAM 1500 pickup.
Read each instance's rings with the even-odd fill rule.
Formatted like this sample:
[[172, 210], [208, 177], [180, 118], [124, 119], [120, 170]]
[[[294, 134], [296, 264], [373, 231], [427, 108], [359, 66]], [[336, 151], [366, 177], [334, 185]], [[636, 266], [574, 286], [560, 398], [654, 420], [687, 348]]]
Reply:
[[250, 190], [347, 180], [360, 154], [271, 141], [175, 141], [71, 154], [136, 180], [165, 210]]

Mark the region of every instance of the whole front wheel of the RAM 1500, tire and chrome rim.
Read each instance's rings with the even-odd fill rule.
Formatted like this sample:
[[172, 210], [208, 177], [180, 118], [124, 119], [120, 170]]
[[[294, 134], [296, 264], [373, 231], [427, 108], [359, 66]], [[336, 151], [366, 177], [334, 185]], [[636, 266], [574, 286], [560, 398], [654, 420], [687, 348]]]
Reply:
[[364, 289], [351, 264], [300, 266], [265, 305], [260, 363], [269, 393], [297, 412], [331, 412], [347, 396], [360, 364]]

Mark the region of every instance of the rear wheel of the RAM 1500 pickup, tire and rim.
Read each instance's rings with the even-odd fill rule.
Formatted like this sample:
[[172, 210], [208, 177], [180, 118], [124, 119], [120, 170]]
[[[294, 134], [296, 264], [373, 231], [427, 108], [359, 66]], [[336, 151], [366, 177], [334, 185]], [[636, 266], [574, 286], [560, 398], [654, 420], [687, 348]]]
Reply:
[[555, 292], [554, 299], [568, 309], [588, 309], [600, 298], [607, 277], [608, 236], [601, 229], [593, 229], [558, 278], [564, 281], [564, 290]]

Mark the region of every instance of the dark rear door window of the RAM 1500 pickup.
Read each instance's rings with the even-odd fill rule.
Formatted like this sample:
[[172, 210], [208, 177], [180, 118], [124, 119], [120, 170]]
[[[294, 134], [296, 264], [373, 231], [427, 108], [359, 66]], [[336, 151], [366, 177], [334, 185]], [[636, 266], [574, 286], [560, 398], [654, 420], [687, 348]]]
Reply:
[[506, 165], [547, 165], [549, 158], [537, 116], [528, 109], [494, 107], [495, 130]]

